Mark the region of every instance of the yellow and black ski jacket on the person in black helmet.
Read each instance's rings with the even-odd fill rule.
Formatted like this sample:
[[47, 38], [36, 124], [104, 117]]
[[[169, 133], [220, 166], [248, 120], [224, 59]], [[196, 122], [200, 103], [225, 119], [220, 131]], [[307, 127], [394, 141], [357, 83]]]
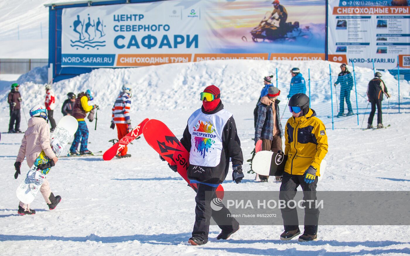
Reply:
[[316, 112], [309, 109], [303, 117], [291, 117], [285, 126], [285, 171], [303, 175], [312, 165], [320, 176], [320, 163], [328, 153], [328, 136], [323, 122]]

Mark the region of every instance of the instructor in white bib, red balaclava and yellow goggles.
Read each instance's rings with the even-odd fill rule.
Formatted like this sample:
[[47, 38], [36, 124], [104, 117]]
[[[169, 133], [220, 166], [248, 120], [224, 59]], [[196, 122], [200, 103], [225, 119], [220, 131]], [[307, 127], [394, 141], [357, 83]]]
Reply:
[[[202, 107], [191, 114], [185, 128], [181, 144], [189, 151], [188, 178], [196, 183], [195, 224], [191, 245], [204, 245], [208, 242], [211, 216], [222, 229], [216, 239], [228, 239], [239, 229], [239, 223], [228, 217], [230, 211], [223, 206], [219, 211], [212, 210], [211, 201], [216, 198], [216, 188], [229, 171], [232, 161], [232, 180], [237, 184], [244, 178], [242, 173], [243, 155], [232, 113], [223, 108], [221, 91], [210, 85], [200, 94]], [[210, 139], [212, 137], [212, 139]], [[177, 171], [176, 165], [170, 165]]]

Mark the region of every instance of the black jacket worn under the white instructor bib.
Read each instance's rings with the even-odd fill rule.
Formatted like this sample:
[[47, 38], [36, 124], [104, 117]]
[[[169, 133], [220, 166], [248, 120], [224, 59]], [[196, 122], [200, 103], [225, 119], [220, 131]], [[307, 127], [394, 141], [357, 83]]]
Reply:
[[[217, 112], [223, 110], [222, 102], [219, 103], [218, 107], [211, 112], [205, 112], [202, 107], [202, 112], [204, 114], [216, 114]], [[182, 139], [180, 140], [182, 146], [191, 151], [191, 134], [189, 133], [189, 127], [185, 128]], [[188, 178], [190, 180], [196, 180], [201, 183], [210, 183], [210, 184], [220, 184], [222, 183], [229, 171], [229, 161], [232, 160], [232, 165], [242, 165], [244, 162], [244, 157], [242, 155], [241, 142], [239, 140], [235, 120], [232, 117], [228, 119], [222, 134], [222, 153], [221, 161], [215, 167], [204, 167], [189, 165], [188, 167]], [[203, 172], [194, 171], [196, 168], [202, 168]]]

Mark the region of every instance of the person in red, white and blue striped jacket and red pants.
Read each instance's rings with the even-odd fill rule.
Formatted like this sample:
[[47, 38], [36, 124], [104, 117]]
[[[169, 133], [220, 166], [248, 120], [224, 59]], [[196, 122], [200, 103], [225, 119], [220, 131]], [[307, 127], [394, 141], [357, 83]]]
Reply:
[[[131, 119], [130, 119], [130, 107], [131, 107], [131, 87], [130, 85], [124, 85], [122, 91], [118, 94], [115, 100], [114, 106], [112, 107], [112, 120], [110, 128], [114, 130], [117, 126], [118, 139], [122, 139], [127, 133], [132, 130]], [[128, 148], [124, 147], [116, 157], [126, 158], [130, 157], [127, 154]]]

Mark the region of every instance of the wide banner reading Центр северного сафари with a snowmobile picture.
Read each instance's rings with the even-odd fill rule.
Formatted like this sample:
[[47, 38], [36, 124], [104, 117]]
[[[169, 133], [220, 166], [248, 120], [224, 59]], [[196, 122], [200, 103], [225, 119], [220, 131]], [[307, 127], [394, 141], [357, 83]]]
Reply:
[[325, 0], [168, 0], [65, 8], [62, 66], [325, 59]]

